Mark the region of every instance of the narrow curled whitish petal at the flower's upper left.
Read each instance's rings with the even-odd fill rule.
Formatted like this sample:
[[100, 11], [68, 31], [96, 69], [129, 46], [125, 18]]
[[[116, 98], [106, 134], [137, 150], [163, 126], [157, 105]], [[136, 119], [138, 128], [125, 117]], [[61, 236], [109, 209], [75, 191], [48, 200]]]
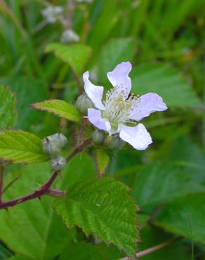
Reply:
[[105, 110], [105, 105], [102, 104], [103, 86], [95, 86], [89, 80], [89, 72], [83, 74], [84, 89], [89, 98], [93, 101], [96, 108]]

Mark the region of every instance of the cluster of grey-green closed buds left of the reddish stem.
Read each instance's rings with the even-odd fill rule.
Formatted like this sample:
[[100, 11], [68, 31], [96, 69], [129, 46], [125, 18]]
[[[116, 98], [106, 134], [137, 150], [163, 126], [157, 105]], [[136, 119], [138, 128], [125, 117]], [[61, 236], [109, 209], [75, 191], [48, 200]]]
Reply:
[[67, 143], [67, 138], [60, 133], [47, 136], [43, 139], [43, 151], [51, 158], [51, 169], [60, 171], [65, 167], [66, 160], [60, 155], [63, 146]]

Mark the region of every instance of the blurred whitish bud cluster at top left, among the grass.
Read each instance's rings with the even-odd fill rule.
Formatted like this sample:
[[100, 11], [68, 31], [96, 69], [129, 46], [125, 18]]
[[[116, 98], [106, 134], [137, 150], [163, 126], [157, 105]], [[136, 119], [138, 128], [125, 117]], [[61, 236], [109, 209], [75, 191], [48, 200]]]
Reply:
[[62, 11], [61, 6], [48, 6], [41, 13], [47, 22], [54, 23], [62, 18]]

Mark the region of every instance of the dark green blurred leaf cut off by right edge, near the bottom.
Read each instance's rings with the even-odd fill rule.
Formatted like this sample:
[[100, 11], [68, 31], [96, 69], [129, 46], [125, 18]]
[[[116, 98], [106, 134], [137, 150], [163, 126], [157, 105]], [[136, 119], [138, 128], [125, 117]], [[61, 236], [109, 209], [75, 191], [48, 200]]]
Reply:
[[167, 203], [157, 215], [157, 226], [185, 238], [205, 243], [205, 193], [196, 193]]

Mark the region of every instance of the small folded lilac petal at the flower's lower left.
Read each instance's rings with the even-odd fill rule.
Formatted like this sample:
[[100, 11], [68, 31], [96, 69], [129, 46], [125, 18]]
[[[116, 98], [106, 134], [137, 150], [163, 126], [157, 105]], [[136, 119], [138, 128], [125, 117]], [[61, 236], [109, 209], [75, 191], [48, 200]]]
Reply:
[[88, 108], [88, 120], [91, 122], [91, 124], [94, 124], [94, 126], [96, 126], [98, 129], [105, 131], [110, 131], [111, 129], [110, 122], [102, 118], [100, 110]]

